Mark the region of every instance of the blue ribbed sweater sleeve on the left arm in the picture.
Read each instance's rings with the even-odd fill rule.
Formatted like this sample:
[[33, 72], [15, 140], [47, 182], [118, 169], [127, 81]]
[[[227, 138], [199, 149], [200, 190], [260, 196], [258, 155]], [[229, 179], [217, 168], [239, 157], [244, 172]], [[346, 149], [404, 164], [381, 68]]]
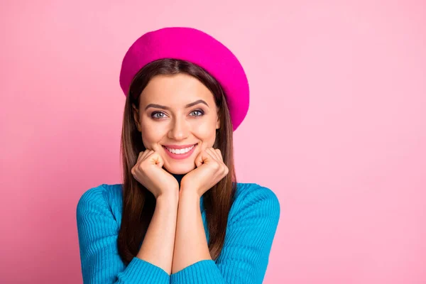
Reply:
[[170, 275], [134, 257], [127, 267], [119, 256], [119, 224], [105, 199], [105, 187], [93, 187], [77, 204], [77, 231], [83, 283], [168, 284]]

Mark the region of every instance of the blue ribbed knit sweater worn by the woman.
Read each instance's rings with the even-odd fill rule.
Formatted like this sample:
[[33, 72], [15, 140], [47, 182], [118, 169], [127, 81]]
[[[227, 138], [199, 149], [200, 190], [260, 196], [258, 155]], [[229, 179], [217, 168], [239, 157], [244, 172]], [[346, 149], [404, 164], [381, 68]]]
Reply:
[[[122, 185], [90, 188], [77, 204], [77, 231], [84, 283], [257, 284], [265, 277], [280, 219], [275, 193], [255, 183], [237, 183], [222, 252], [216, 261], [202, 260], [168, 275], [162, 268], [134, 257], [125, 266], [117, 249], [121, 224]], [[206, 232], [203, 198], [200, 209]]]

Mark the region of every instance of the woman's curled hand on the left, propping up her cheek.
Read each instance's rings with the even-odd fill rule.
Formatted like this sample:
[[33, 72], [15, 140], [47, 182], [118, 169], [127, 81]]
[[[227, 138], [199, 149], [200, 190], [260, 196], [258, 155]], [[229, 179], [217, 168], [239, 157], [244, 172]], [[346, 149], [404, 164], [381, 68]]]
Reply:
[[179, 196], [178, 180], [163, 169], [163, 158], [153, 150], [139, 153], [136, 165], [131, 169], [133, 177], [152, 192], [155, 199], [162, 195]]

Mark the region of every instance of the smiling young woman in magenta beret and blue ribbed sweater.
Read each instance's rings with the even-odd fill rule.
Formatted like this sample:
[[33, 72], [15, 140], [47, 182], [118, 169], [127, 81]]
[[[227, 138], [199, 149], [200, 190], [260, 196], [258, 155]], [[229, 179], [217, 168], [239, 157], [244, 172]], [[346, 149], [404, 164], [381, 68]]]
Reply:
[[280, 204], [236, 182], [232, 135], [249, 109], [239, 60], [195, 28], [162, 28], [131, 45], [120, 84], [124, 182], [77, 204], [84, 283], [262, 283]]

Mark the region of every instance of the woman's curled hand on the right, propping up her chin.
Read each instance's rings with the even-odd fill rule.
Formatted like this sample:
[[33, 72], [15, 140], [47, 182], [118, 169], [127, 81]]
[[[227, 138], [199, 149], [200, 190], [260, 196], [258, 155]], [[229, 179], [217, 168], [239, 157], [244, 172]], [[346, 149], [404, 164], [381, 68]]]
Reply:
[[201, 197], [229, 172], [219, 149], [207, 148], [201, 151], [195, 158], [195, 165], [197, 168], [180, 181], [180, 192], [194, 191]]

